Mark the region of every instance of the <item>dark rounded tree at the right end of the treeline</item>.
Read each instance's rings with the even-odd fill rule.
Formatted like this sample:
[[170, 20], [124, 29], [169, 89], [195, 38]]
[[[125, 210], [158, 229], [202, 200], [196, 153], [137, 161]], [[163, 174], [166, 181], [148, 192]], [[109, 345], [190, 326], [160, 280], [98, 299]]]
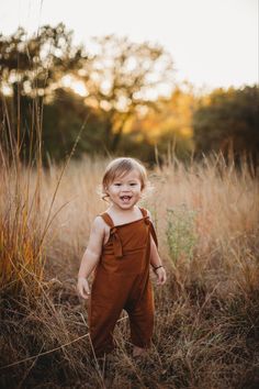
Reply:
[[215, 90], [193, 115], [195, 154], [221, 151], [239, 163], [246, 154], [259, 165], [259, 87]]

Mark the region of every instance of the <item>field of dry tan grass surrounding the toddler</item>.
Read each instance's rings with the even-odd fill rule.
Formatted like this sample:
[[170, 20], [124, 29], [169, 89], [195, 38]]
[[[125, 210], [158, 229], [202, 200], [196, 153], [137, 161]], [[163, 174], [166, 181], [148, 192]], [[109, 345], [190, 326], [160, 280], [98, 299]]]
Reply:
[[76, 277], [91, 221], [105, 209], [104, 164], [1, 166], [1, 388], [256, 389], [259, 180], [221, 156], [149, 171], [143, 205], [168, 273], [164, 287], [154, 280], [153, 346], [132, 358], [123, 313], [116, 352], [100, 364], [90, 358]]

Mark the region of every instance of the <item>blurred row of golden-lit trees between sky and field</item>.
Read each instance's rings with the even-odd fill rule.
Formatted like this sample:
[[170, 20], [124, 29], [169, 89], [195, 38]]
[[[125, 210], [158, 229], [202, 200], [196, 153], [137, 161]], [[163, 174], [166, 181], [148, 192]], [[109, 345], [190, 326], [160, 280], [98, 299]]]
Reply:
[[[24, 162], [72, 152], [153, 164], [212, 151], [259, 165], [259, 87], [198, 96], [161, 46], [114, 35], [76, 46], [64, 24], [0, 35], [1, 149]], [[165, 97], [165, 92], [170, 92]], [[79, 95], [79, 92], [81, 92]]]

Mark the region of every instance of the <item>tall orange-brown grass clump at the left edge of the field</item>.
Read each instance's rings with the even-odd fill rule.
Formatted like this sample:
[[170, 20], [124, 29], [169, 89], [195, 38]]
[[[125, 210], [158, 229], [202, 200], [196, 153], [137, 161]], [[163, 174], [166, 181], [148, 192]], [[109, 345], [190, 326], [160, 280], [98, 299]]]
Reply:
[[1, 168], [0, 188], [0, 287], [1, 292], [21, 296], [31, 288], [38, 293], [44, 255], [38, 204], [29, 199], [29, 187], [18, 171]]

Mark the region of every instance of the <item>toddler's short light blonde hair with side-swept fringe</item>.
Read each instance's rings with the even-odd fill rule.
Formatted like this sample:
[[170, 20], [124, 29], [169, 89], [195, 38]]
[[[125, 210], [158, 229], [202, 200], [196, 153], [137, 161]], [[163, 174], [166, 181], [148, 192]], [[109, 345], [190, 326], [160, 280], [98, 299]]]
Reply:
[[142, 184], [142, 190], [144, 190], [147, 186], [147, 171], [145, 166], [135, 158], [130, 157], [121, 157], [113, 159], [108, 166], [104, 171], [102, 178], [102, 192], [103, 199], [108, 196], [106, 188], [111, 182], [114, 181], [117, 177], [123, 177], [131, 173], [132, 170], [136, 170], [139, 174], [139, 179]]

